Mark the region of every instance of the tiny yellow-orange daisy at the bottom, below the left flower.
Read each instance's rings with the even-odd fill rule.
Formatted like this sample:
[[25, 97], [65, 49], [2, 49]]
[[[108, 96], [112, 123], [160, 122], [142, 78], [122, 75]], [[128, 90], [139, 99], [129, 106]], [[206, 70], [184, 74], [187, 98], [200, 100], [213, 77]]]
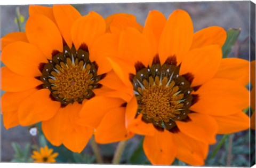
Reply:
[[55, 158], [58, 156], [58, 153], [53, 153], [53, 149], [49, 149], [47, 146], [40, 148], [40, 151], [33, 151], [32, 158], [35, 159], [35, 163], [55, 163]]

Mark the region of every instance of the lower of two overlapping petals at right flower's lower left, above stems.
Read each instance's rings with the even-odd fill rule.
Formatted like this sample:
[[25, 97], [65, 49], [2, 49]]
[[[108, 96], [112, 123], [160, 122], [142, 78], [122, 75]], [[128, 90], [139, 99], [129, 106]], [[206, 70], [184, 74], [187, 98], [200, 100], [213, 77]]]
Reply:
[[95, 132], [95, 141], [98, 143], [113, 143], [130, 139], [133, 134], [125, 127], [125, 108], [110, 110], [100, 122]]

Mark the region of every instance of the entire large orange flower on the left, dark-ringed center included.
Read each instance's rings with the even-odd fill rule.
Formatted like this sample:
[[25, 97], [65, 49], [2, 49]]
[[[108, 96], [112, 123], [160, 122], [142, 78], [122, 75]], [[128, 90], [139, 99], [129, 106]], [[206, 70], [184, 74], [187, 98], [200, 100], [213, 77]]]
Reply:
[[125, 102], [104, 97], [111, 89], [99, 83], [111, 70], [105, 56], [115, 38], [101, 15], [82, 17], [71, 5], [30, 6], [29, 14], [25, 33], [1, 39], [4, 126], [42, 122], [53, 145], [80, 152], [106, 111]]

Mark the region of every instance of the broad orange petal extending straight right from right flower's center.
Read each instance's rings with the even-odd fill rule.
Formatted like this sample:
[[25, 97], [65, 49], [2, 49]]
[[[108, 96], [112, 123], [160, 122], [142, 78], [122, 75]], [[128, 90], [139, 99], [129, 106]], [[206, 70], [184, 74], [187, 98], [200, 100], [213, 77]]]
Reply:
[[227, 116], [249, 107], [249, 91], [229, 79], [214, 78], [195, 93], [198, 101], [189, 109], [198, 113]]

